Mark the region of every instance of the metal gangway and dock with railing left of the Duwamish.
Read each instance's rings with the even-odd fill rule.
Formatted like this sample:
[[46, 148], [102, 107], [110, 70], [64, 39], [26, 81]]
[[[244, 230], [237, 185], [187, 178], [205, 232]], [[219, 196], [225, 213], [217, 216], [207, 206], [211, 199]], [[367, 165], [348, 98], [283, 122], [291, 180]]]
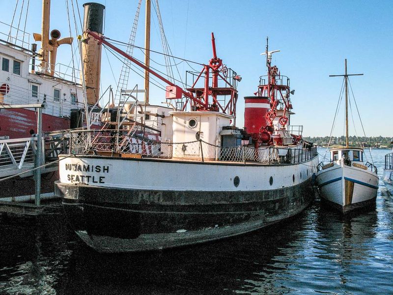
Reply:
[[[38, 115], [37, 134], [0, 140], [0, 212], [37, 215], [47, 206], [54, 206], [53, 181], [57, 176], [58, 155], [67, 151], [68, 140], [66, 130], [42, 133], [43, 107], [41, 104], [0, 106], [0, 110], [34, 108]], [[43, 175], [47, 177], [42, 182]]]

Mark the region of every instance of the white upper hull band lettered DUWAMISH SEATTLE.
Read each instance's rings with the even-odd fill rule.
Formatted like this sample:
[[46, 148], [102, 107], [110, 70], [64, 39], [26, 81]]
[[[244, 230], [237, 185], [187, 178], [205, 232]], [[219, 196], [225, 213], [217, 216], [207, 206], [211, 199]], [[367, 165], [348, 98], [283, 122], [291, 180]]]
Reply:
[[59, 180], [107, 188], [249, 192], [300, 184], [316, 173], [317, 164], [317, 157], [295, 165], [244, 165], [76, 156], [59, 162]]

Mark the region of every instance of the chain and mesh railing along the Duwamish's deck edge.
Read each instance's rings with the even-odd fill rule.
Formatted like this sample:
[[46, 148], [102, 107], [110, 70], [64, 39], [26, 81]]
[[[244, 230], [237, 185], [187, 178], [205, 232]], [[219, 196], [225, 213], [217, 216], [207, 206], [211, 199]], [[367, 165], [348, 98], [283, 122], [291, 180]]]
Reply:
[[129, 134], [127, 130], [77, 130], [71, 131], [72, 153], [116, 153], [135, 157], [172, 158], [184, 160], [259, 162], [262, 164], [295, 164], [317, 156], [316, 147], [220, 147], [203, 140], [171, 143], [145, 138], [140, 129]]

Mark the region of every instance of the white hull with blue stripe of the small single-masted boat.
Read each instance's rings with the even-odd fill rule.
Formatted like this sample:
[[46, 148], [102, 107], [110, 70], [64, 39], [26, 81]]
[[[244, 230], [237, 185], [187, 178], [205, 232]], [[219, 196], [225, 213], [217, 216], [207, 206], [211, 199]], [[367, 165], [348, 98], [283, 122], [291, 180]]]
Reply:
[[368, 170], [344, 165], [342, 161], [317, 173], [321, 198], [343, 213], [375, 200], [378, 176]]

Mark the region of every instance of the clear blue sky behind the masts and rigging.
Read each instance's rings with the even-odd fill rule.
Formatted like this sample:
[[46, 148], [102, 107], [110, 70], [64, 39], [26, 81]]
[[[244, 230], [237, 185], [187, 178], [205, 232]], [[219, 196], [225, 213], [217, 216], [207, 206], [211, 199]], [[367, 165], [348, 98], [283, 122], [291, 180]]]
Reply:
[[[1, 2], [4, 11], [9, 11], [2, 21], [10, 23], [15, 1]], [[63, 36], [69, 35], [65, 0], [52, 2], [55, 17], [52, 17], [51, 29], [60, 29]], [[99, 2], [106, 5], [105, 35], [128, 41], [138, 1]], [[282, 75], [291, 78], [291, 88], [296, 90], [291, 97], [296, 113], [291, 118], [292, 124], [304, 125], [304, 135], [330, 134], [342, 80], [329, 78], [329, 75], [342, 74], [346, 58], [349, 73], [364, 73], [350, 81], [365, 134], [393, 136], [393, 2], [161, 0], [160, 8], [168, 43], [175, 56], [207, 63], [212, 55], [210, 32], [215, 33], [218, 56], [243, 77], [238, 87], [240, 127], [244, 122], [243, 96], [252, 95], [257, 89], [258, 77], [266, 73], [265, 59], [260, 53], [264, 52], [266, 36], [269, 36], [269, 48], [281, 50], [274, 55], [273, 63]], [[40, 32], [41, 1], [30, 0], [29, 12], [27, 31]], [[144, 44], [143, 20], [142, 4], [136, 40], [139, 46]], [[156, 19], [152, 23], [151, 48], [162, 51]], [[59, 59], [65, 59], [63, 63], [68, 64], [69, 52], [69, 48], [59, 49]], [[136, 50], [135, 53], [142, 59], [141, 52]], [[103, 88], [115, 85], [121, 69], [121, 64], [110, 53], [108, 56], [109, 61], [103, 53]], [[152, 58], [164, 62], [156, 55]], [[187, 65], [179, 65], [181, 73], [189, 69]], [[129, 81], [129, 88], [137, 83], [140, 88], [143, 85], [133, 72]], [[152, 90], [151, 103], [160, 104], [164, 95], [161, 90]], [[341, 112], [335, 136], [343, 135], [343, 116]], [[356, 130], [359, 136], [363, 135], [359, 123]], [[350, 125], [350, 135], [354, 134]]]

